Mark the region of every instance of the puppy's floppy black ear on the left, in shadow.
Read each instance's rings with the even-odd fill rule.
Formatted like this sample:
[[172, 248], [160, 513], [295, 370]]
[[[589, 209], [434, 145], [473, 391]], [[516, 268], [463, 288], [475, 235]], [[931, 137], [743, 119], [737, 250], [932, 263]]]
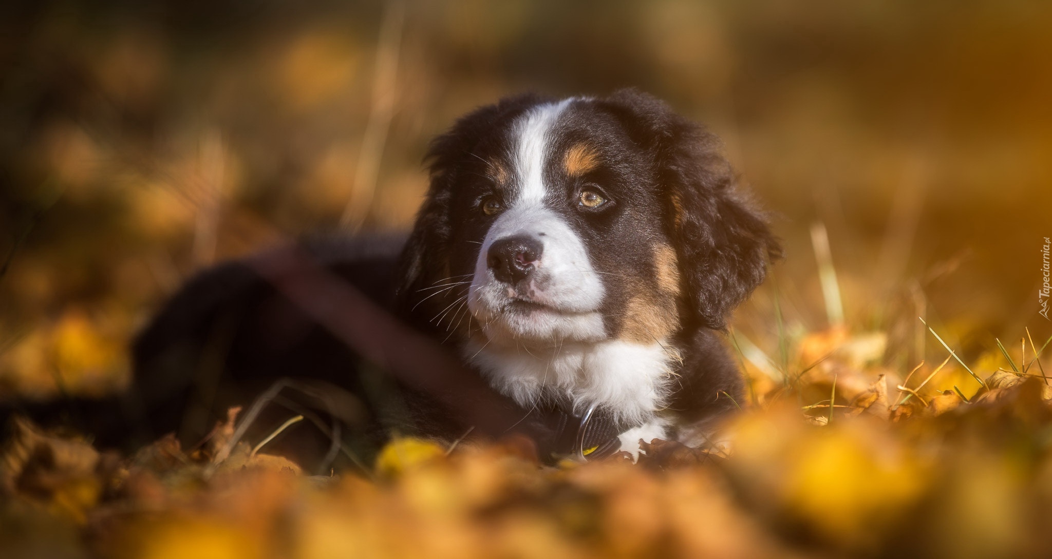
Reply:
[[430, 186], [399, 262], [396, 305], [400, 312], [408, 313], [425, 296], [422, 288], [449, 275], [449, 205], [463, 179], [464, 161], [476, 157], [476, 146], [491, 137], [500, 123], [540, 101], [532, 94], [502, 99], [467, 113], [431, 141], [424, 157]]

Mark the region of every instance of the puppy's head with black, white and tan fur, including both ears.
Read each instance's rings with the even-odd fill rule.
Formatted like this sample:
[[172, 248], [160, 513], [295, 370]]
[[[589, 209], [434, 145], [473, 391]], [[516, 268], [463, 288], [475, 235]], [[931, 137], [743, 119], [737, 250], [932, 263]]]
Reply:
[[723, 328], [778, 253], [719, 142], [634, 90], [504, 100], [429, 153], [405, 311], [514, 346]]

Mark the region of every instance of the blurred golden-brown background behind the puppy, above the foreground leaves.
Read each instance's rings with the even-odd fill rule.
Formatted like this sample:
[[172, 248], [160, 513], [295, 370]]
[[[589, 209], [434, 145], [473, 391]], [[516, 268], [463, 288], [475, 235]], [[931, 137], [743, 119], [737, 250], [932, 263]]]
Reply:
[[753, 365], [830, 327], [937, 363], [917, 316], [973, 360], [1039, 347], [1050, 22], [1026, 0], [4, 2], [0, 397], [120, 388], [129, 337], [214, 262], [405, 229], [429, 139], [524, 90], [638, 86], [724, 139], [787, 248], [735, 325]]

